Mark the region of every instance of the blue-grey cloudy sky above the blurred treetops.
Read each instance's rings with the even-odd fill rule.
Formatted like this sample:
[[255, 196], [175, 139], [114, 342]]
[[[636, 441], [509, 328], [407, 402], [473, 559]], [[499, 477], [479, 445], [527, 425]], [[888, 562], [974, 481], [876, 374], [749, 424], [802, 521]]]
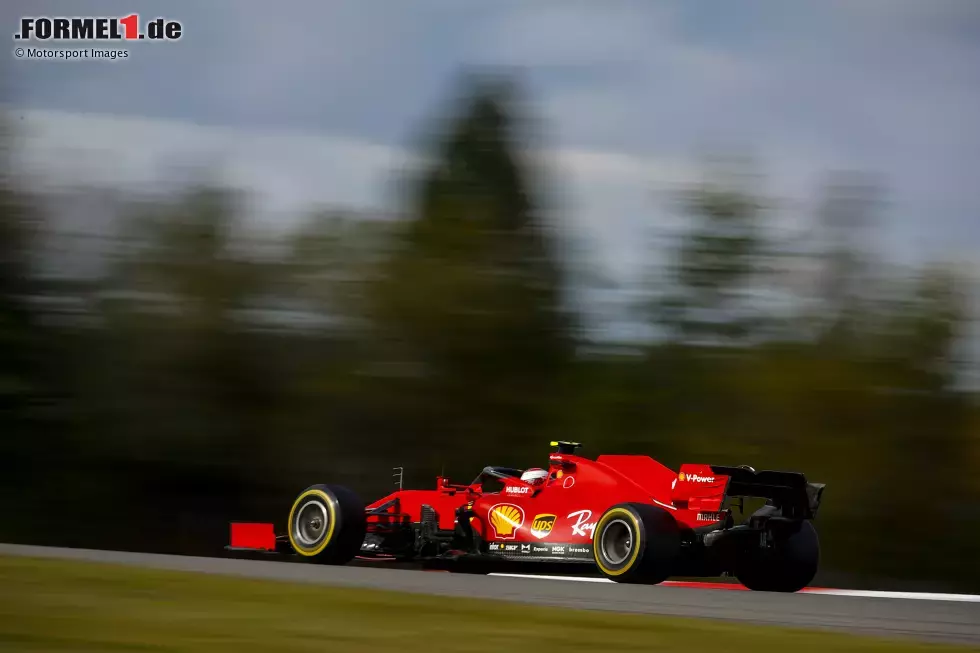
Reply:
[[879, 173], [889, 254], [980, 269], [978, 0], [0, 8], [11, 32], [20, 15], [158, 10], [183, 23], [181, 41], [130, 46], [116, 63], [9, 57], [35, 172], [129, 185], [218, 165], [270, 221], [312, 201], [385, 209], [391, 173], [460, 66], [517, 66], [547, 127], [543, 155], [566, 182], [563, 219], [616, 272], [643, 261], [642, 229], [669, 224], [657, 192], [716, 147], [757, 156], [768, 190], [804, 208], [826, 170]]

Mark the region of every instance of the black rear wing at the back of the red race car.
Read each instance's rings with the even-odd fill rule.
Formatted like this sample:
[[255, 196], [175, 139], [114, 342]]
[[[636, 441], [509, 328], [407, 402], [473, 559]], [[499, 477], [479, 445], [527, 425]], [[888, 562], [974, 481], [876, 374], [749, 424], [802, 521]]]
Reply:
[[748, 467], [711, 465], [718, 475], [728, 477], [729, 497], [759, 497], [779, 508], [784, 517], [814, 519], [823, 498], [824, 483], [810, 483], [799, 472], [755, 471]]

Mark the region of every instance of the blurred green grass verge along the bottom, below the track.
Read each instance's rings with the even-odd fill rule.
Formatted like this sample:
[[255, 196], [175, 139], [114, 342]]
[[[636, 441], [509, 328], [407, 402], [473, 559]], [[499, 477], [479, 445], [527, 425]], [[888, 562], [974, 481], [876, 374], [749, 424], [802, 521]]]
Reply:
[[827, 632], [0, 556], [0, 650], [957, 651]]

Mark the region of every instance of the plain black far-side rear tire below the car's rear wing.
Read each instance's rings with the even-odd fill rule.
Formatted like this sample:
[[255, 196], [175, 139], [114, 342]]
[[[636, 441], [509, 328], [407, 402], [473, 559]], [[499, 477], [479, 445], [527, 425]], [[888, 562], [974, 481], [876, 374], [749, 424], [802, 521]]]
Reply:
[[753, 548], [743, 554], [735, 577], [758, 592], [798, 592], [817, 575], [820, 540], [809, 521], [770, 522], [773, 547]]

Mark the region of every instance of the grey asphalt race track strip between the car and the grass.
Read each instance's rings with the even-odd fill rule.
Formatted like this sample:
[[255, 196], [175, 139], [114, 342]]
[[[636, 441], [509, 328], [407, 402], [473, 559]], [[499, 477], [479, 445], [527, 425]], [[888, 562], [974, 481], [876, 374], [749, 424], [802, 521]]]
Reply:
[[364, 587], [449, 597], [498, 599], [590, 610], [722, 619], [912, 637], [980, 646], [980, 602], [826, 594], [773, 594], [688, 587], [474, 576], [278, 560], [61, 549], [0, 544], [0, 555], [108, 562], [154, 569]]

